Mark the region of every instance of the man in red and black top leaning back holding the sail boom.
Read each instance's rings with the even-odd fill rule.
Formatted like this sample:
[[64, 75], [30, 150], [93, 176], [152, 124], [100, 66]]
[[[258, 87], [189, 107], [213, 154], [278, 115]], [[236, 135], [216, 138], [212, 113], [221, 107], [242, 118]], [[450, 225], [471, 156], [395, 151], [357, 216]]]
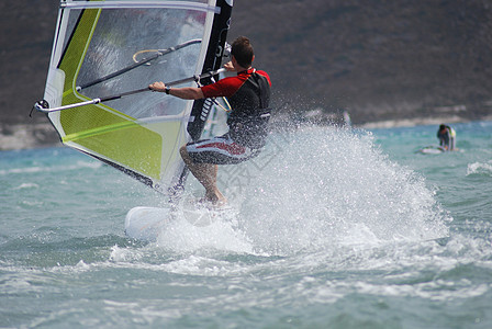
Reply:
[[154, 91], [185, 99], [226, 97], [232, 106], [227, 118], [228, 132], [223, 136], [191, 141], [181, 147], [180, 154], [191, 173], [205, 188], [204, 200], [215, 205], [226, 203], [219, 191], [217, 164], [237, 164], [259, 154], [267, 137], [270, 116], [270, 78], [267, 72], [251, 67], [255, 59], [253, 46], [245, 36], [239, 36], [231, 47], [232, 60], [224, 67], [237, 72], [215, 83], [201, 88], [170, 88], [164, 82], [149, 86]]

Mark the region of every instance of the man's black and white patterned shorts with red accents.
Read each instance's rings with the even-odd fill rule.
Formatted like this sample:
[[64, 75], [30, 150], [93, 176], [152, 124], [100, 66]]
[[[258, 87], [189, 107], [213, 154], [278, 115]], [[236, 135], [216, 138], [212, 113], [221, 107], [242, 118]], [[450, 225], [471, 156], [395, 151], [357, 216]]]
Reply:
[[259, 149], [236, 144], [228, 134], [189, 143], [187, 150], [193, 162], [212, 164], [236, 164], [259, 154]]

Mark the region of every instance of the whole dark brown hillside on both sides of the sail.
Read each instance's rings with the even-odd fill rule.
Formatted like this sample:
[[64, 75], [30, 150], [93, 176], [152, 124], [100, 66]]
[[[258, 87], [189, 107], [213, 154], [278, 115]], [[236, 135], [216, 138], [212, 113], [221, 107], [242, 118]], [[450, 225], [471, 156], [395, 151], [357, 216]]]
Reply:
[[[42, 99], [58, 1], [0, 3], [0, 128], [46, 122]], [[492, 114], [492, 4], [485, 0], [235, 1], [230, 41], [251, 38], [273, 103], [346, 110], [355, 124]], [[51, 132], [37, 132], [52, 140]]]

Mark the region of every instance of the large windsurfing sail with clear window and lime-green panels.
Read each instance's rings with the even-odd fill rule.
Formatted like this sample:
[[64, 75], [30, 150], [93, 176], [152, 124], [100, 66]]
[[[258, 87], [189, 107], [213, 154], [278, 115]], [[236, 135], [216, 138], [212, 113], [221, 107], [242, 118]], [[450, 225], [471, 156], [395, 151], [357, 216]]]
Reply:
[[185, 101], [147, 86], [216, 78], [232, 5], [62, 1], [41, 102], [62, 141], [168, 193], [186, 177], [179, 148], [200, 137], [213, 102]]

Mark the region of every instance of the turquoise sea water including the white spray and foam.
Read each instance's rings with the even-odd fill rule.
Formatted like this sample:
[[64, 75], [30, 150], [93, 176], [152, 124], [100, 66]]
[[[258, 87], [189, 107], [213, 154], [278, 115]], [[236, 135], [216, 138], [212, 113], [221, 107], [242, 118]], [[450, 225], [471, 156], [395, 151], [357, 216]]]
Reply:
[[[221, 167], [235, 209], [156, 242], [165, 198], [71, 149], [0, 152], [1, 328], [491, 328], [492, 123], [277, 132]], [[200, 196], [193, 178], [188, 196]], [[181, 218], [182, 219], [182, 218]]]

